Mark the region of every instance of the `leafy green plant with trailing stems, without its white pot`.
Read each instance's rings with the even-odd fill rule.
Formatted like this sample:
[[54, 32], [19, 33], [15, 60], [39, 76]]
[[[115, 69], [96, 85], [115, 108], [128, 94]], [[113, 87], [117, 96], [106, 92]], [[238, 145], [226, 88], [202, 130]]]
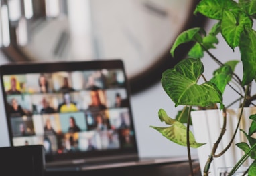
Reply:
[[[243, 133], [247, 142], [241, 141], [235, 144], [244, 152], [244, 155], [239, 161], [236, 161], [237, 163], [233, 165], [229, 175], [233, 175], [249, 157], [252, 161], [246, 172], [248, 175], [255, 175], [256, 139], [252, 135], [256, 132], [256, 114], [247, 117], [243, 117], [242, 114], [245, 107], [255, 106], [253, 101], [256, 99], [256, 95], [251, 95], [252, 85], [256, 81], [256, 31], [253, 30], [253, 20], [256, 18], [256, 1], [202, 0], [196, 6], [194, 15], [197, 13], [216, 20], [216, 24], [212, 26], [208, 33], [198, 27], [180, 33], [170, 50], [172, 57], [175, 57], [176, 49], [181, 47], [183, 43], [194, 42], [194, 46], [188, 52], [188, 57], [182, 59], [173, 68], [164, 71], [161, 79], [164, 91], [175, 103], [175, 106], [183, 105], [184, 109], [178, 113], [176, 118], [168, 117], [164, 109], [159, 109], [159, 119], [167, 126], [151, 127], [162, 133], [170, 141], [187, 147], [190, 173], [193, 175], [190, 147], [202, 147], [205, 143], [198, 143], [192, 131], [190, 131], [191, 113], [193, 110], [218, 109], [222, 113], [223, 125], [220, 131], [216, 131], [220, 135], [214, 142], [211, 152], [205, 156], [208, 159], [205, 167], [201, 168], [204, 175], [209, 175], [209, 168], [214, 162], [213, 159], [221, 157], [233, 145], [232, 142], [237, 133]], [[221, 58], [215, 57], [210, 52], [211, 49], [217, 48], [219, 36], [225, 39], [225, 43], [231, 50], [239, 49], [241, 54], [239, 61], [230, 60], [222, 63]], [[219, 65], [210, 79], [204, 77], [204, 54], [210, 55], [210, 58]], [[239, 62], [243, 65], [243, 75], [235, 73], [235, 66]], [[229, 139], [229, 145], [217, 155], [216, 150], [220, 142], [224, 140], [223, 136], [227, 125], [229, 105], [223, 103], [227, 86], [237, 93], [234, 102], [241, 101], [239, 103], [241, 115], [239, 115], [234, 134]], [[245, 121], [250, 121], [250, 126], [248, 129], [240, 129], [240, 132], [239, 123], [242, 118], [245, 118]], [[186, 120], [184, 121], [184, 119]]]

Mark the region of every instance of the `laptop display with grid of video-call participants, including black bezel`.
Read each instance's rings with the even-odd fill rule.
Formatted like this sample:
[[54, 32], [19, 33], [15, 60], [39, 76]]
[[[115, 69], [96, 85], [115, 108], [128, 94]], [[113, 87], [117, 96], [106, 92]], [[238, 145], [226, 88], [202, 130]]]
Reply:
[[137, 155], [121, 60], [2, 65], [13, 146], [44, 145], [46, 159]]

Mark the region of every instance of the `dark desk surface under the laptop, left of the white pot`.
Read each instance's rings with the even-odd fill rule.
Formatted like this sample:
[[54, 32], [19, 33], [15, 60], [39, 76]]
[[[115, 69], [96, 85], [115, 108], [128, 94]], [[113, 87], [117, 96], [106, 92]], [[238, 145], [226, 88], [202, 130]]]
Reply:
[[[148, 163], [147, 163], [148, 162]], [[195, 170], [194, 176], [200, 176], [200, 165], [198, 160], [193, 161], [193, 167]], [[84, 167], [80, 171], [47, 171], [45, 176], [82, 176], [82, 175], [122, 175], [122, 176], [176, 176], [176, 175], [189, 175], [190, 173], [188, 161], [180, 159], [180, 161], [174, 161], [174, 159], [158, 159], [155, 162], [150, 162], [145, 159], [145, 162], [135, 163], [129, 162], [115, 165], [104, 165], [100, 169], [99, 167]]]

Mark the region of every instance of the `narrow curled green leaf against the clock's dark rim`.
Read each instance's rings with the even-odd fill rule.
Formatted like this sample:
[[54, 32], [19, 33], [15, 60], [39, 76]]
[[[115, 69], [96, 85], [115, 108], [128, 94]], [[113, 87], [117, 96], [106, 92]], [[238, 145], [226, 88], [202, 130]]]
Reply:
[[179, 45], [183, 43], [188, 43], [189, 41], [194, 41], [195, 38], [200, 39], [200, 35], [199, 35], [200, 30], [201, 29], [199, 27], [195, 27], [180, 33], [180, 35], [176, 38], [176, 41], [174, 41], [174, 45], [172, 45], [172, 48], [170, 50], [172, 57], [174, 57], [174, 51]]

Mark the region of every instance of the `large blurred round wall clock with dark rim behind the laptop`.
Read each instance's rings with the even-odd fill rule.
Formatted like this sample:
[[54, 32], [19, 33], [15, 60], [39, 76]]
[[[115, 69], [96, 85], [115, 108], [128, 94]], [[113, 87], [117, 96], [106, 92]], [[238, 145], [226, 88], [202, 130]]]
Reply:
[[[2, 1], [0, 44], [10, 61], [122, 59], [131, 93], [137, 93], [159, 81], [162, 71], [178, 62], [169, 52], [177, 35], [188, 27], [204, 24], [201, 16], [193, 15], [197, 3]], [[189, 47], [177, 55], [184, 57]]]

